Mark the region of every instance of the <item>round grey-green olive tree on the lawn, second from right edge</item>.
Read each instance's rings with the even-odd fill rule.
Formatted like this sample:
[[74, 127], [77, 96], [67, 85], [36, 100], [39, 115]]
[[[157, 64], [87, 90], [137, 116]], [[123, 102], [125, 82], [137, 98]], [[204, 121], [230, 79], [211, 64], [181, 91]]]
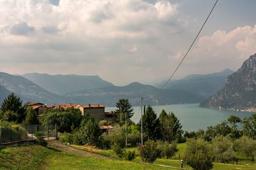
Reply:
[[212, 140], [212, 152], [217, 161], [222, 163], [230, 162], [236, 159], [236, 152], [234, 152], [234, 144], [230, 136], [216, 136]]

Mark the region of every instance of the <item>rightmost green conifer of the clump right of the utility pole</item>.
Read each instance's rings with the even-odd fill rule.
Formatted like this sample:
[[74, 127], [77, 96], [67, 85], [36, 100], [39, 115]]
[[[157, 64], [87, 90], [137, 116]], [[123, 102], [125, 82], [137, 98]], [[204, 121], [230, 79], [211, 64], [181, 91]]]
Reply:
[[182, 125], [174, 113], [166, 113], [162, 111], [159, 115], [161, 134], [165, 141], [171, 143], [173, 140], [182, 136]]

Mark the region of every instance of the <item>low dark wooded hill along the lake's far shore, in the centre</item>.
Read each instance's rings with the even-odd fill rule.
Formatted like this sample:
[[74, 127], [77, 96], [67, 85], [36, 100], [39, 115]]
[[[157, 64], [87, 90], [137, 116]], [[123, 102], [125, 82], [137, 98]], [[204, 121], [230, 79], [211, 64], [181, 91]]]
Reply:
[[151, 85], [143, 85], [141, 83], [131, 83], [124, 87], [111, 86], [71, 92], [65, 96], [71, 97], [72, 103], [104, 104], [106, 106], [115, 106], [115, 103], [120, 98], [128, 98], [132, 106], [140, 105], [141, 97], [144, 99], [150, 98], [143, 103], [151, 105], [200, 103], [202, 101], [202, 97], [191, 92], [173, 89], [160, 90]]

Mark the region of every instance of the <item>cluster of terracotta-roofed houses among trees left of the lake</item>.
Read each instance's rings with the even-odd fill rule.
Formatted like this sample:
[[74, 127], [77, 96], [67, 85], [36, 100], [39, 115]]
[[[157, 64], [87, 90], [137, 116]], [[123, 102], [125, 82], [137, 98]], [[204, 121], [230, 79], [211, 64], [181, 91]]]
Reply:
[[[84, 115], [84, 113], [90, 113], [90, 115], [96, 120], [100, 122], [100, 120], [109, 120], [114, 118], [116, 115], [115, 111], [106, 112], [105, 106], [102, 104], [88, 104], [88, 105], [80, 105], [80, 104], [59, 104], [58, 106], [47, 106], [46, 104], [42, 103], [28, 103], [28, 106], [31, 106], [33, 110], [38, 113], [38, 115], [42, 115], [45, 110], [48, 109], [56, 109], [56, 108], [75, 108], [79, 109]], [[100, 129], [113, 129], [111, 126], [101, 126]]]

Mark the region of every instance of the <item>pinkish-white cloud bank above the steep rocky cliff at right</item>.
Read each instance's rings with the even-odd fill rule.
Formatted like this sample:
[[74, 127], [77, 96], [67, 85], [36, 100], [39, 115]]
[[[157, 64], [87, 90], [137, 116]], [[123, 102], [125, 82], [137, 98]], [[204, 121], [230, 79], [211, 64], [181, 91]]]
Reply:
[[255, 39], [256, 25], [237, 27], [230, 32], [218, 30], [211, 36], [202, 36], [189, 53], [184, 67], [197, 73], [211, 73], [227, 67], [236, 71], [244, 60], [256, 53]]

